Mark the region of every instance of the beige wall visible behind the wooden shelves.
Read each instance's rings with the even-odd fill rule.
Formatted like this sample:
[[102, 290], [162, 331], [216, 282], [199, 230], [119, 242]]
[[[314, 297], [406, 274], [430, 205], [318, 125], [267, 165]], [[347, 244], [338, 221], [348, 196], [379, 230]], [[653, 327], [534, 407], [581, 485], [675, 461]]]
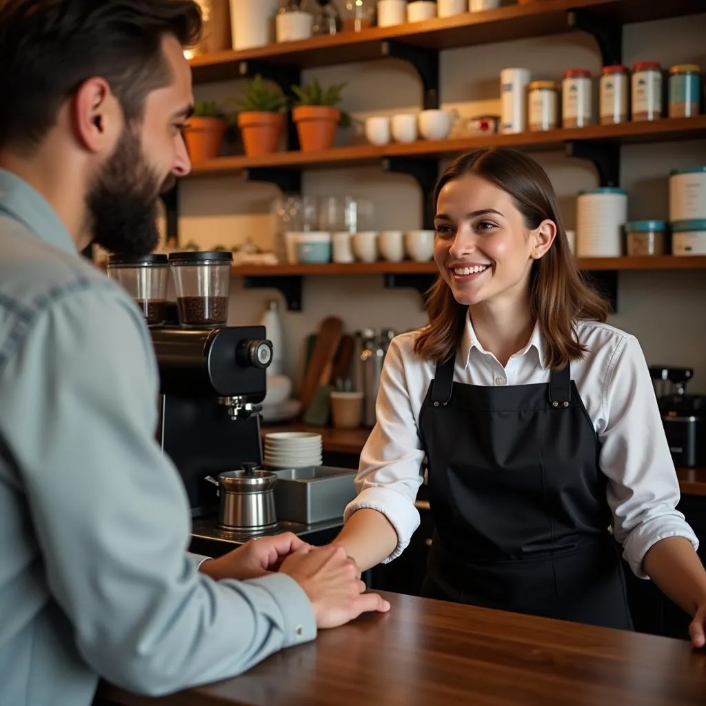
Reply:
[[[628, 26], [624, 33], [623, 62], [654, 59], [663, 66], [695, 62], [706, 67], [706, 14], [678, 20]], [[525, 66], [533, 78], [561, 76], [564, 68], [590, 68], [594, 76], [600, 59], [593, 40], [568, 34], [534, 40], [454, 49], [441, 55], [441, 102], [460, 114], [499, 112], [498, 76], [505, 66]], [[349, 81], [343, 107], [354, 117], [393, 114], [417, 109], [419, 81], [405, 64], [392, 60], [307, 71], [323, 83]], [[239, 90], [237, 83], [197, 86], [197, 97], [224, 97]], [[359, 140], [355, 131], [340, 131], [338, 142]], [[590, 164], [561, 153], [535, 155], [547, 169], [559, 196], [568, 227], [575, 224], [575, 196], [596, 186]], [[622, 150], [622, 186], [630, 193], [630, 218], [666, 218], [667, 174], [673, 167], [706, 164], [706, 140], [659, 145], [635, 145]], [[421, 227], [421, 194], [407, 177], [361, 168], [308, 172], [304, 193], [358, 195], [372, 198], [376, 229]], [[251, 238], [261, 246], [272, 240], [268, 216], [277, 189], [249, 184], [238, 177], [198, 178], [183, 184], [182, 242], [200, 246], [231, 245]], [[232, 282], [230, 323], [258, 321], [264, 303], [279, 298], [274, 290], [246, 290]], [[706, 273], [635, 272], [620, 275], [619, 312], [614, 325], [640, 339], [650, 363], [693, 366], [693, 390], [706, 392]], [[395, 330], [424, 323], [415, 292], [386, 290], [382, 277], [309, 277], [304, 280], [304, 311], [285, 313], [287, 368], [295, 384], [301, 378], [304, 335], [316, 330], [321, 318], [336, 313], [350, 331], [364, 326]]]

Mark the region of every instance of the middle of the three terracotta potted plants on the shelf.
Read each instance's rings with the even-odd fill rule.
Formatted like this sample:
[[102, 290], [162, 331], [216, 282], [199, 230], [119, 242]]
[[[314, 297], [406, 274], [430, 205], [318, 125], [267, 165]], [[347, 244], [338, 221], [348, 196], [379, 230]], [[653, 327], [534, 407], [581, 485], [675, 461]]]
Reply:
[[285, 125], [282, 109], [287, 100], [276, 88], [268, 88], [263, 77], [251, 80], [245, 95], [238, 101], [238, 126], [249, 157], [269, 155], [277, 150]]

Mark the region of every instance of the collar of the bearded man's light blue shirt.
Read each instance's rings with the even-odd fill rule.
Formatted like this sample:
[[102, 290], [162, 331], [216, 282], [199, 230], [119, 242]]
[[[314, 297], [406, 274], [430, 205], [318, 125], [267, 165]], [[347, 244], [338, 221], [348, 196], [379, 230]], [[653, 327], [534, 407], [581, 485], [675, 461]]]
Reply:
[[68, 253], [78, 255], [64, 222], [49, 202], [24, 179], [0, 169], [0, 212], [22, 222], [38, 238]]

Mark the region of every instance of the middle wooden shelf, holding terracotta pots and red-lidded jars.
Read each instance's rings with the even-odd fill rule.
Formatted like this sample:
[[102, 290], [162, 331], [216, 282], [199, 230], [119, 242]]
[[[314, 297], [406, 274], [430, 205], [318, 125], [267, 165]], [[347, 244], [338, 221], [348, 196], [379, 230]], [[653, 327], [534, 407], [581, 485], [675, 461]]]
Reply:
[[390, 157], [438, 159], [469, 150], [487, 147], [513, 147], [528, 151], [557, 150], [570, 142], [600, 140], [618, 145], [656, 143], [670, 140], [706, 139], [706, 115], [693, 118], [665, 118], [650, 122], [620, 125], [590, 125], [570, 130], [558, 129], [517, 135], [484, 135], [453, 140], [417, 140], [409, 144], [393, 143], [384, 147], [355, 145], [320, 152], [292, 150], [274, 152], [263, 157], [218, 157], [193, 164], [191, 176], [234, 174], [244, 169], [270, 167], [277, 169], [322, 169], [380, 164]]

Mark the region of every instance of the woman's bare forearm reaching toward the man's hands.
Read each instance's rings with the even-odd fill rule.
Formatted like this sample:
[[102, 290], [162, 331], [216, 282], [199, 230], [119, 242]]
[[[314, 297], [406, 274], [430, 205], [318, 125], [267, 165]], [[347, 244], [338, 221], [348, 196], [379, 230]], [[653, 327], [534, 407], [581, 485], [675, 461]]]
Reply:
[[395, 551], [397, 532], [383, 513], [363, 508], [349, 517], [333, 544], [340, 544], [358, 568], [366, 571]]

